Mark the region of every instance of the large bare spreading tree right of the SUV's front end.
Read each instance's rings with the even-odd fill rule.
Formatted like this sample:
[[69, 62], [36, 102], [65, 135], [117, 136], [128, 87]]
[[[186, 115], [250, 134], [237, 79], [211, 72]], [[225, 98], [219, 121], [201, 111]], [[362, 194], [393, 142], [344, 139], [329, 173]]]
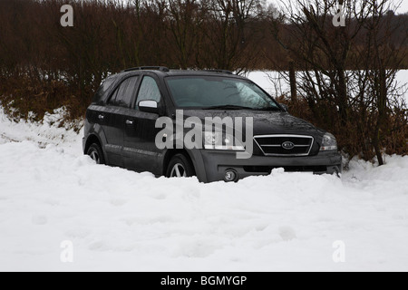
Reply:
[[385, 25], [393, 1], [339, 2], [345, 26], [334, 25], [337, 1], [296, 0], [282, 2], [284, 24], [271, 23], [272, 32], [296, 61], [298, 93], [316, 122], [341, 136], [341, 145], [352, 154], [363, 152], [369, 159], [374, 150], [381, 165], [380, 132], [403, 60], [403, 50], [390, 46], [394, 30]]

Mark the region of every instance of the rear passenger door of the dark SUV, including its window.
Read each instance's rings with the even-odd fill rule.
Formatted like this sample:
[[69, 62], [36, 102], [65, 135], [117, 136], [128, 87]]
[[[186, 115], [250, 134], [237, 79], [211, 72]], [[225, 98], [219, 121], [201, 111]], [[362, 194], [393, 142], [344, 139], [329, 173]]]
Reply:
[[134, 99], [138, 75], [131, 76], [116, 88], [107, 102], [105, 110], [100, 112], [102, 128], [105, 131], [107, 144], [105, 152], [110, 164], [124, 167], [123, 162], [123, 133], [126, 126], [126, 115]]

